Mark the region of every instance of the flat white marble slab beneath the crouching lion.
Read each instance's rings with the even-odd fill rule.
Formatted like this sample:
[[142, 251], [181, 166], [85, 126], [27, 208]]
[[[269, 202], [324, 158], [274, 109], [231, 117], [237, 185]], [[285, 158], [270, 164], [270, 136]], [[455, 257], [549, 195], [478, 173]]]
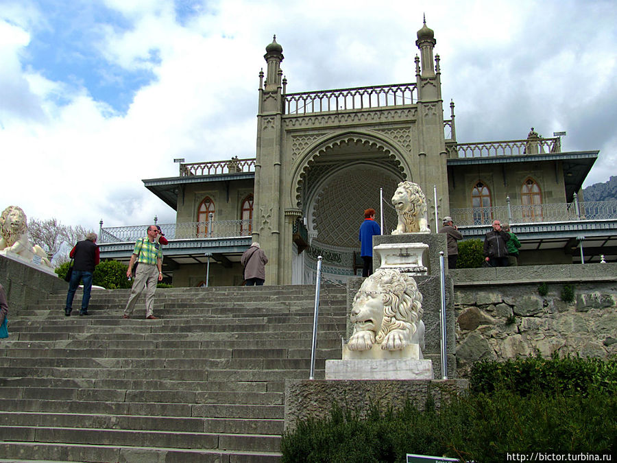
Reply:
[[[417, 344], [416, 344], [417, 345]], [[326, 379], [433, 379], [433, 362], [419, 359], [326, 360]]]

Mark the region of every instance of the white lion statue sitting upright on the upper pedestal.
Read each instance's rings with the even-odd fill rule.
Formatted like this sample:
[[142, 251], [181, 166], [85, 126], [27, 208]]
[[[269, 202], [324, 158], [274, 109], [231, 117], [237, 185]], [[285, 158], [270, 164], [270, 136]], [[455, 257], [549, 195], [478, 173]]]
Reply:
[[400, 182], [391, 201], [398, 215], [398, 224], [392, 235], [431, 232], [426, 215], [426, 198], [417, 183]]

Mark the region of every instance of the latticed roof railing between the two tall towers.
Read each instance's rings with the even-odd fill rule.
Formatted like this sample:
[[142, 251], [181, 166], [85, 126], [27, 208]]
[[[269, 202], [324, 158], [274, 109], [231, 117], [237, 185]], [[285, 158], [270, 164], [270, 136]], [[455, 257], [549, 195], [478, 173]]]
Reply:
[[415, 84], [340, 88], [285, 95], [285, 114], [310, 114], [337, 110], [387, 108], [414, 104]]

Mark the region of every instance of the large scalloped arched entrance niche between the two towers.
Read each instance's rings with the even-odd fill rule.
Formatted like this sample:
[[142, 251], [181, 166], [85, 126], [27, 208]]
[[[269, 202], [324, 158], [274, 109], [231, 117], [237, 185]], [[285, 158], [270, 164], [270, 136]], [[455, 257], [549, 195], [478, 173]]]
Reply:
[[364, 210], [375, 209], [379, 222], [383, 209], [383, 233], [396, 227], [390, 198], [406, 179], [405, 167], [391, 147], [361, 139], [330, 143], [311, 158], [297, 189], [311, 244], [296, 263], [302, 268], [298, 283], [315, 281], [319, 255], [326, 281], [345, 283], [361, 272], [358, 231]]

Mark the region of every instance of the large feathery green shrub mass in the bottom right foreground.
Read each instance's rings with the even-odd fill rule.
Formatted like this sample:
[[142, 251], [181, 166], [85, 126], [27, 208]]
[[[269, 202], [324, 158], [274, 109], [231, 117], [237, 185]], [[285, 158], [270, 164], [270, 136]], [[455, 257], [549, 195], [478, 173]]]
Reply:
[[612, 453], [617, 440], [617, 394], [452, 398], [420, 412], [408, 403], [398, 412], [374, 406], [366, 418], [336, 405], [324, 420], [306, 420], [286, 431], [282, 462], [405, 462], [407, 453], [476, 462], [506, 461], [506, 452]]

